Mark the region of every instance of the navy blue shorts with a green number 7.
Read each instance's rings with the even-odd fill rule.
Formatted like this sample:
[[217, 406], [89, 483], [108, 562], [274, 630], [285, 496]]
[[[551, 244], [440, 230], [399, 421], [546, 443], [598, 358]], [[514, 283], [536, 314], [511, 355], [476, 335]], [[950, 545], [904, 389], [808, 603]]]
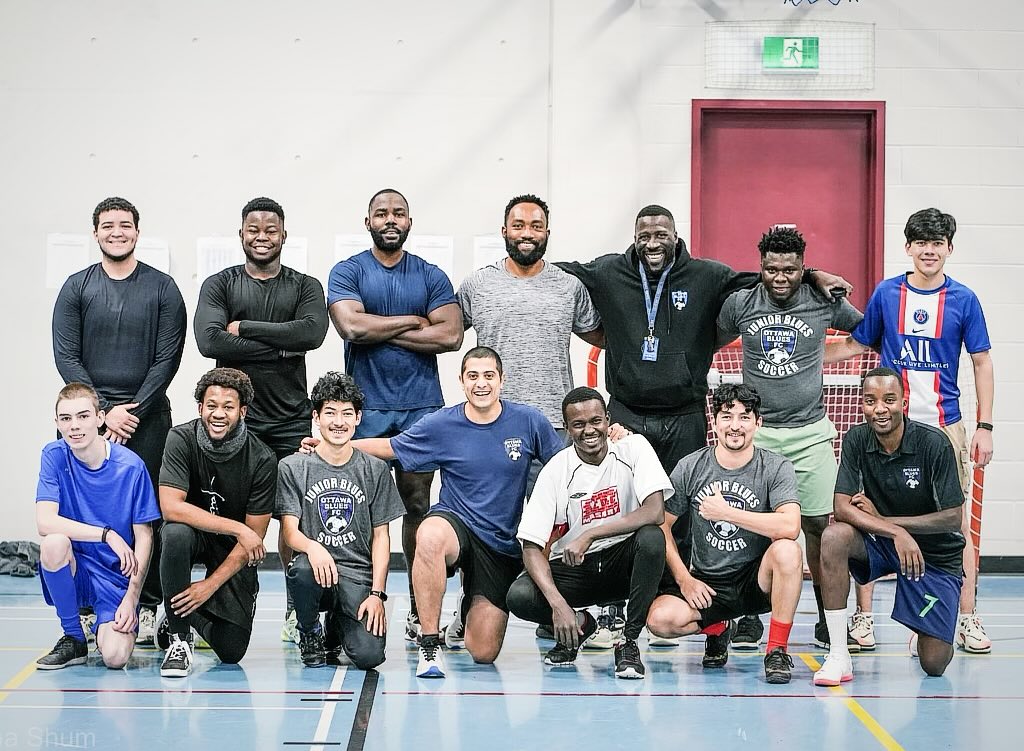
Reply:
[[963, 576], [954, 576], [925, 564], [925, 575], [907, 579], [899, 572], [896, 545], [888, 537], [862, 535], [867, 564], [850, 561], [850, 573], [858, 584], [867, 584], [887, 574], [896, 574], [893, 620], [911, 631], [953, 643]]

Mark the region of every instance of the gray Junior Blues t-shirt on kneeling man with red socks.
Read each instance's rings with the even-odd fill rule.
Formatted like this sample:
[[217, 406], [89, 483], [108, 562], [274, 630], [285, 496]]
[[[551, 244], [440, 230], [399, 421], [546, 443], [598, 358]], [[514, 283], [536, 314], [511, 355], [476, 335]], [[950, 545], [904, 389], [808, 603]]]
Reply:
[[771, 513], [797, 500], [797, 473], [785, 457], [754, 449], [754, 458], [739, 469], [725, 469], [715, 459], [712, 446], [684, 456], [672, 470], [676, 494], [665, 508], [676, 516], [690, 514], [693, 539], [691, 569], [698, 579], [721, 581], [765, 554], [771, 540], [728, 521], [709, 521], [697, 509], [700, 500], [720, 487], [731, 506], [758, 513]]

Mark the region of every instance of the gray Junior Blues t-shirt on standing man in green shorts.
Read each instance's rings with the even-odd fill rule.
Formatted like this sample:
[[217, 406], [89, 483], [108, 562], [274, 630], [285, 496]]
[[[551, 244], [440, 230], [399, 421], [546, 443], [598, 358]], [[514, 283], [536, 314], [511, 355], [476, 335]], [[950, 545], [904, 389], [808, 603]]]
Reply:
[[827, 329], [853, 331], [863, 315], [803, 284], [782, 307], [763, 284], [734, 292], [718, 316], [724, 336], [741, 336], [743, 383], [761, 394], [769, 427], [803, 427], [825, 416], [821, 369]]

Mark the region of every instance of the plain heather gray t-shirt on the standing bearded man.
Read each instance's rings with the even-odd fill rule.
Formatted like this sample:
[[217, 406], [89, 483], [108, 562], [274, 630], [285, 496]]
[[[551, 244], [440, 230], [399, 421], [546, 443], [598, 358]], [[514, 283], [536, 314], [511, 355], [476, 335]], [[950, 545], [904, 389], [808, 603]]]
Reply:
[[502, 358], [502, 397], [562, 427], [562, 399], [572, 389], [569, 339], [601, 325], [583, 283], [546, 261], [536, 277], [513, 277], [500, 260], [467, 277], [457, 297], [476, 343]]

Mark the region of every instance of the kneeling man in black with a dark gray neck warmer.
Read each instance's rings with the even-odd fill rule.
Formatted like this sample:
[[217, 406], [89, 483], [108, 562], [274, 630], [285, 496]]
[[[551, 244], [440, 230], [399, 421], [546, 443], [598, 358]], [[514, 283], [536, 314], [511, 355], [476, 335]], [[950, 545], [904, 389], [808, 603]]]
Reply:
[[[199, 419], [167, 436], [160, 469], [165, 615], [157, 628], [157, 644], [167, 650], [164, 677], [191, 672], [193, 628], [221, 662], [237, 663], [249, 649], [255, 567], [266, 552], [278, 488], [274, 453], [246, 429], [252, 400], [249, 376], [214, 368], [196, 386]], [[191, 581], [194, 564], [206, 567], [205, 579]]]

